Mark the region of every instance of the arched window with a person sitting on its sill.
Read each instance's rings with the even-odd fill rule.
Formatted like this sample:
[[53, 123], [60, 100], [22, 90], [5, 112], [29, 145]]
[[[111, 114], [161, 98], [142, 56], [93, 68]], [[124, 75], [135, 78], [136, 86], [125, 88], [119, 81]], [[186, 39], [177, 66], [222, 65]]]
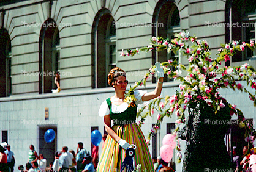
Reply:
[[55, 73], [60, 70], [59, 30], [52, 19], [43, 23], [39, 38], [39, 93], [51, 93], [56, 88]]

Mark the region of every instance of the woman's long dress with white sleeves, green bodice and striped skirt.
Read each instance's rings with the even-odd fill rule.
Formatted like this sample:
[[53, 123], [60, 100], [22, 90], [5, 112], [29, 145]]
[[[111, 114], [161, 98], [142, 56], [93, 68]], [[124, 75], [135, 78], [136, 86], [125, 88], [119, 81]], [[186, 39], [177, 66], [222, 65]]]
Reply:
[[[135, 167], [140, 164], [141, 171], [152, 171], [154, 165], [152, 158], [146, 144], [145, 137], [140, 127], [135, 123], [137, 114], [137, 104], [141, 104], [141, 96], [144, 95], [144, 91], [134, 91], [135, 106], [128, 107], [128, 104], [117, 106], [112, 104], [110, 98], [102, 103], [100, 106], [99, 115], [105, 116], [110, 114], [110, 118], [113, 121], [112, 129], [116, 134], [126, 140], [129, 144], [137, 146], [135, 149]], [[125, 150], [119, 146], [118, 142], [114, 140], [110, 135], [107, 136], [102, 153], [99, 159], [99, 165], [97, 171], [99, 172], [113, 172], [121, 169], [122, 162], [125, 158]]]

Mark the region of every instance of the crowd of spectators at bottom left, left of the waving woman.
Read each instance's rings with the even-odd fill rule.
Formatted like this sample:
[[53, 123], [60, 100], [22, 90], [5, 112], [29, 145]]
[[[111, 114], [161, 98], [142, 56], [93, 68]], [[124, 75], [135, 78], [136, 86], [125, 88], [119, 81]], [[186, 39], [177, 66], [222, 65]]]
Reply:
[[[10, 145], [7, 149], [0, 146], [0, 172], [13, 172], [15, 165], [14, 153], [10, 151]], [[94, 155], [97, 156], [98, 149], [94, 149]], [[94, 157], [92, 163], [91, 154], [83, 148], [83, 143], [78, 143], [77, 152], [63, 146], [61, 151], [55, 152], [55, 160], [48, 163], [43, 154], [37, 154], [34, 145], [29, 146], [28, 162], [26, 165], [19, 165], [20, 172], [93, 172], [97, 168], [97, 157]]]

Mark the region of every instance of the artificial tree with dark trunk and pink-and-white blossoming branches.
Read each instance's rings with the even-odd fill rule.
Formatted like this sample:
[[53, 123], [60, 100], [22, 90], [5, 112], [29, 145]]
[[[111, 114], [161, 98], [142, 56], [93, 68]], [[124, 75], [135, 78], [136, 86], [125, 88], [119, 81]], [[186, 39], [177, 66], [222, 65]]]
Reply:
[[[176, 150], [178, 151], [179, 162], [181, 160], [181, 149], [178, 138], [187, 141], [183, 171], [200, 170], [202, 167], [229, 169], [229, 164], [224, 165], [230, 160], [225, 148], [224, 137], [230, 126], [231, 116], [237, 115], [237, 123], [244, 127], [249, 150], [253, 147], [252, 141], [256, 132], [252, 124], [246, 123], [246, 118], [238, 106], [228, 103], [220, 95], [219, 90], [232, 89], [247, 93], [249, 99], [256, 106], [256, 93], [252, 93], [256, 89], [254, 80], [256, 71], [247, 63], [236, 67], [224, 66], [221, 68], [220, 65], [224, 60], [228, 62], [238, 51], [244, 51], [246, 47], [254, 50], [254, 41], [250, 41], [250, 43], [242, 42], [241, 44], [239, 44], [239, 41], [232, 41], [221, 45], [222, 48], [217, 51], [218, 53], [214, 59], [206, 40], [197, 40], [195, 35], [190, 36], [186, 32], [175, 34], [175, 38], [171, 40], [152, 37], [150, 41], [151, 43], [148, 46], [135, 50], [128, 49], [126, 54], [122, 51], [120, 56], [134, 56], [141, 51], [167, 50], [168, 53], [171, 51], [175, 54], [179, 52], [182, 57], [187, 57], [189, 65], [178, 63], [177, 60], [168, 60], [168, 62], [161, 63], [164, 73], [170, 79], [178, 80], [180, 84], [174, 95], [156, 98], [138, 111], [137, 117], [141, 117], [141, 121], [138, 122], [139, 126], [144, 123], [146, 116], [153, 115], [154, 109], [159, 112], [156, 124], [149, 132], [147, 143], [149, 143], [152, 133], [160, 128], [164, 118], [171, 118], [174, 113], [177, 118], [176, 126], [178, 126], [174, 134], [176, 135]], [[152, 65], [144, 78], [130, 87], [125, 95], [127, 100], [132, 100], [135, 88], [141, 85], [146, 86], [146, 79], [154, 74], [155, 69], [156, 66]], [[247, 85], [242, 85], [245, 82], [240, 82], [241, 80], [246, 81]], [[248, 87], [251, 87], [252, 90], [247, 90]], [[186, 110], [188, 111], [187, 117], [184, 113]], [[222, 121], [222, 125], [206, 124], [205, 120], [219, 120]], [[184, 124], [182, 129], [180, 128], [181, 124]], [[246, 154], [248, 153], [249, 151]], [[203, 159], [203, 161], [198, 159]], [[208, 163], [206, 163], [206, 160], [208, 160]], [[213, 163], [214, 160], [216, 162]], [[201, 165], [198, 162], [201, 162]], [[217, 163], [219, 165], [214, 166]]]

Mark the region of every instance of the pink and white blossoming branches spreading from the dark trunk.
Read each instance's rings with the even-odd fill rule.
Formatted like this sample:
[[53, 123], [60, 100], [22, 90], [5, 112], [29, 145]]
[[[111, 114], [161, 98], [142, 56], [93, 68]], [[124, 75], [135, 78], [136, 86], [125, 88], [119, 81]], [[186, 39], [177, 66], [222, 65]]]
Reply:
[[[244, 91], [248, 93], [250, 100], [252, 100], [254, 106], [256, 106], [256, 92], [252, 94], [244, 88], [243, 85], [236, 82], [236, 79], [245, 80], [247, 86], [250, 85], [252, 89], [256, 90], [256, 82], [254, 81], [256, 77], [255, 69], [247, 63], [233, 68], [230, 66], [224, 66], [224, 68], [219, 67], [223, 60], [227, 62], [230, 60], [230, 57], [235, 55], [238, 51], [244, 51], [246, 47], [253, 50], [255, 48], [254, 41], [250, 41], [250, 43], [243, 42], [241, 45], [239, 45], [239, 41], [232, 41], [232, 43], [221, 45], [222, 48], [218, 50], [216, 59], [211, 58], [208, 42], [205, 40], [197, 40], [195, 35], [189, 36], [189, 32], [175, 34], [175, 38], [171, 40], [162, 37], [152, 37], [150, 41], [151, 43], [148, 46], [141, 49], [137, 48], [134, 51], [129, 49], [126, 54], [122, 51], [120, 56], [134, 56], [135, 54], [139, 54], [140, 51], [163, 51], [167, 49], [167, 52], [173, 51], [176, 54], [180, 51], [183, 53], [183, 56], [186, 56], [188, 59], [189, 66], [187, 68], [182, 64], [178, 64], [176, 60], [168, 60], [168, 62], [161, 63], [164, 68], [164, 73], [167, 74], [169, 78], [179, 80], [181, 84], [179, 85], [179, 90], [176, 90], [174, 95], [166, 96], [165, 98], [158, 97], [149, 102], [148, 105], [142, 107], [137, 113], [137, 117], [141, 116], [141, 119], [143, 119], [140, 123], [142, 124], [146, 116], [153, 115], [154, 109], [160, 112], [159, 115], [157, 115], [156, 124], [149, 132], [147, 143], [149, 143], [152, 133], [160, 128], [163, 118], [165, 116], [170, 118], [173, 113], [175, 113], [178, 118], [175, 122], [178, 126], [175, 129], [175, 133], [179, 131], [179, 125], [186, 121], [184, 112], [192, 102], [203, 100], [215, 110], [215, 113], [224, 108], [224, 102], [226, 102], [226, 100], [220, 95], [218, 91], [220, 88]], [[193, 45], [186, 46], [187, 41], [191, 41]], [[174, 70], [171, 70], [170, 66], [173, 66]], [[145, 74], [145, 77], [141, 81], [136, 82], [134, 87], [130, 87], [130, 90], [126, 94], [127, 102], [134, 100], [134, 89], [139, 85], [146, 85], [146, 79], [150, 74], [154, 74], [155, 69], [156, 66], [151, 66], [149, 72]], [[182, 74], [185, 70], [187, 71], [186, 76]], [[234, 76], [238, 78], [235, 79]], [[236, 114], [238, 116], [238, 123], [246, 129], [245, 135], [247, 138], [249, 137], [247, 142], [249, 149], [251, 149], [253, 146], [251, 142], [253, 139], [251, 137], [256, 138], [255, 129], [251, 124], [246, 124], [246, 118], [244, 118], [243, 112], [241, 112], [235, 104], [231, 105], [227, 103], [226, 106], [230, 109], [230, 115]], [[176, 149], [178, 151], [178, 161], [180, 161], [181, 149], [178, 136]]]

